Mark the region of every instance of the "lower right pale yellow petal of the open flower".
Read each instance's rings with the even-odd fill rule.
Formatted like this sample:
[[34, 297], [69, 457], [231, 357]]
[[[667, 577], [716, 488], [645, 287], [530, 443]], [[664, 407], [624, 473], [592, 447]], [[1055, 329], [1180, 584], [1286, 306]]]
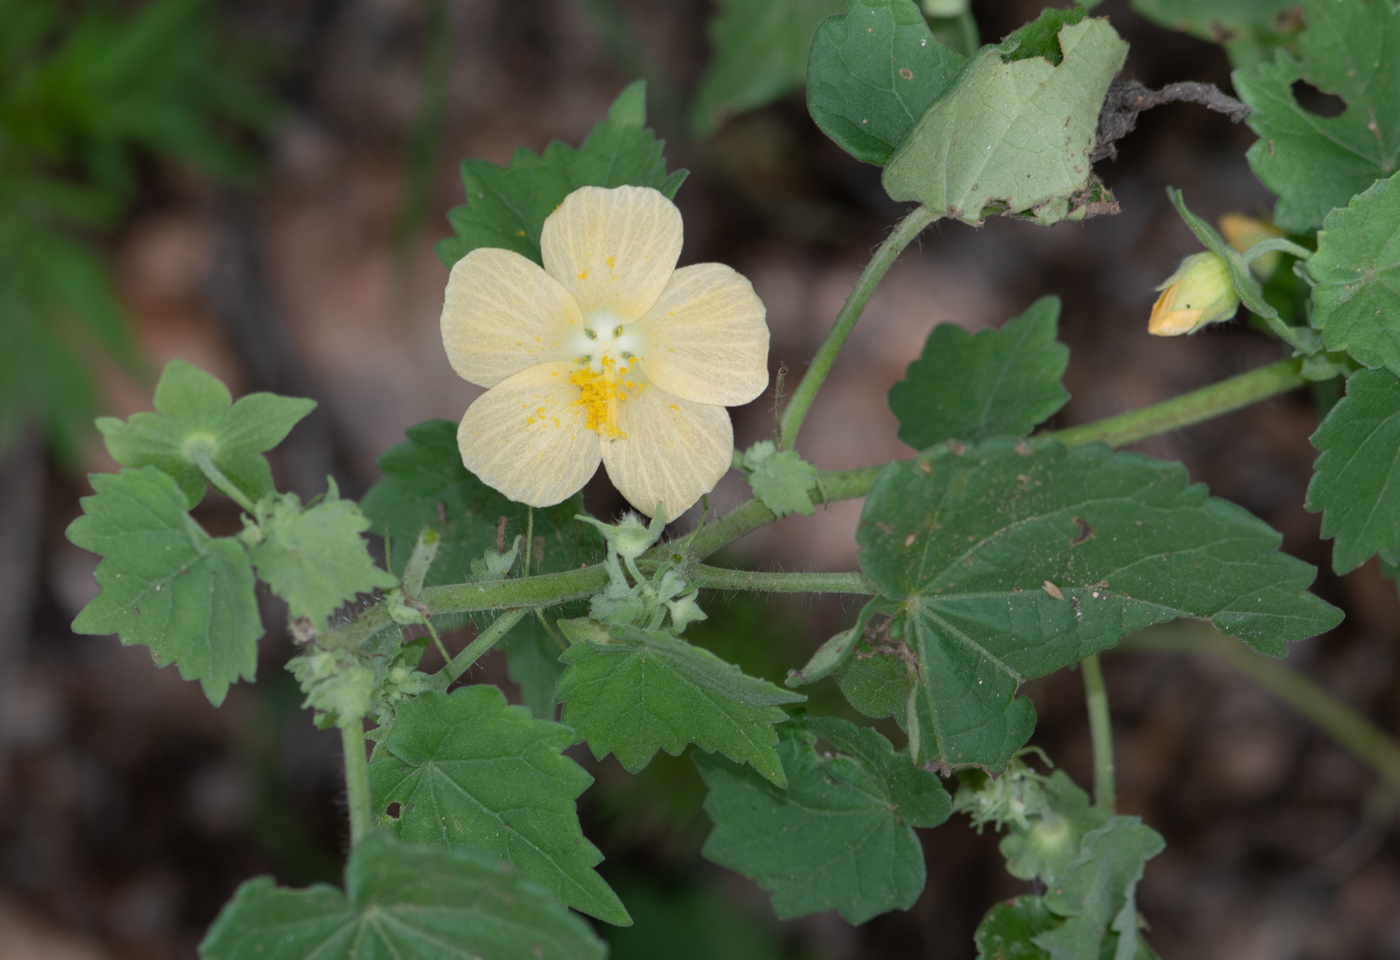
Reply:
[[619, 493], [647, 516], [662, 504], [673, 521], [714, 490], [734, 460], [724, 407], [645, 385], [617, 404], [623, 435], [605, 439], [603, 465]]

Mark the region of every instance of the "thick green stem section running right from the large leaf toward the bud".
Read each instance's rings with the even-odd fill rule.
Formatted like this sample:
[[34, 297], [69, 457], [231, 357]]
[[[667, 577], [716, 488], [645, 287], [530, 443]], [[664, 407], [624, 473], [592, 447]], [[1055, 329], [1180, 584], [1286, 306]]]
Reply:
[[1065, 446], [1084, 446], [1093, 442], [1126, 446], [1298, 389], [1308, 383], [1299, 374], [1302, 364], [1303, 361], [1299, 358], [1280, 360], [1277, 364], [1231, 376], [1228, 381], [1203, 386], [1162, 403], [1154, 403], [1142, 410], [1133, 410], [1107, 420], [1043, 435], [1057, 439]]

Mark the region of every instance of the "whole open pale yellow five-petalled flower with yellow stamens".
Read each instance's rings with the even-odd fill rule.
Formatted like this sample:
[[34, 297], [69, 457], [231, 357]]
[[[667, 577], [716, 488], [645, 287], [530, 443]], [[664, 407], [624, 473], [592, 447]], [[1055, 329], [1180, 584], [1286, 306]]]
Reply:
[[458, 430], [462, 462], [532, 507], [602, 462], [627, 501], [675, 519], [734, 456], [727, 406], [769, 383], [763, 301], [720, 263], [676, 269], [680, 211], [640, 186], [585, 186], [545, 221], [545, 266], [479, 248], [458, 260], [442, 346], [490, 388]]

